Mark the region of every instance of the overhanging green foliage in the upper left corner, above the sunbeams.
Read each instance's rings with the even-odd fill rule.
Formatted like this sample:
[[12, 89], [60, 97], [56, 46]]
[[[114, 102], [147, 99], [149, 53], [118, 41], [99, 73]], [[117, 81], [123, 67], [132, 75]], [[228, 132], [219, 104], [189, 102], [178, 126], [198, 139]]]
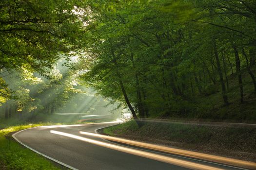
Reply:
[[82, 27], [76, 5], [80, 6], [82, 2], [1, 0], [0, 103], [10, 99], [2, 77], [14, 69], [30, 84], [38, 84], [39, 80], [33, 75], [35, 72], [56, 79], [51, 69], [63, 57], [60, 53], [68, 54], [76, 46], [74, 36], [80, 34]]

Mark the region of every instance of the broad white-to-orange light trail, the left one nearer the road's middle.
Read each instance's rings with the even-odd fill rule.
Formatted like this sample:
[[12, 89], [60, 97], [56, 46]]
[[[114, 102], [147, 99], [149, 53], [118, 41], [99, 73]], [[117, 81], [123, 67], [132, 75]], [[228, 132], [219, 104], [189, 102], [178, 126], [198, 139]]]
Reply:
[[75, 138], [78, 140], [82, 140], [88, 143], [92, 143], [98, 146], [102, 146], [102, 147], [106, 147], [106, 148], [110, 148], [113, 150], [117, 150], [117, 151], [121, 151], [124, 153], [130, 153], [130, 154], [134, 154], [134, 155], [138, 155], [141, 157], [146, 157], [149, 159], [154, 159], [157, 161], [161, 161], [161, 162], [165, 162], [165, 163], [169, 163], [169, 164], [173, 164], [173, 165], [177, 165], [180, 167], [185, 167], [185, 168], [189, 168], [189, 169], [193, 169], [193, 170], [222, 170], [219, 168], [214, 168], [214, 167], [210, 167], [210, 166], [205, 166], [205, 165], [201, 165], [201, 164], [197, 164], [197, 163], [193, 163], [193, 162], [189, 162], [189, 161], [183, 161], [183, 160], [179, 160], [176, 158], [171, 158], [168, 156], [163, 156], [163, 155], [159, 155], [159, 154], [155, 154], [155, 153], [148, 153], [145, 151], [139, 151], [136, 149], [131, 149], [131, 148], [127, 148], [127, 147], [122, 147], [122, 146], [118, 146], [118, 145], [114, 145], [114, 144], [110, 144], [110, 143], [105, 143], [105, 142], [101, 142], [98, 140], [93, 140], [93, 139], [89, 139], [89, 138], [85, 138], [85, 137], [81, 137], [81, 136], [76, 136], [76, 135], [72, 135], [72, 134], [68, 134], [68, 133], [64, 133], [64, 132], [59, 132], [59, 131], [54, 131], [51, 130], [50, 131], [52, 134], [57, 134], [57, 135], [61, 135], [61, 136], [67, 136], [67, 137], [71, 137], [71, 138]]

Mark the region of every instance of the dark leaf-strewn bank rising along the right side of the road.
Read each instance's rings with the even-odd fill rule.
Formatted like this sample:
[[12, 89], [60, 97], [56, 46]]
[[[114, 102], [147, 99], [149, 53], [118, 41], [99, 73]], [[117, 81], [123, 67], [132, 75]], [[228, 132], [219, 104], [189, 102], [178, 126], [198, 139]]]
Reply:
[[135, 121], [103, 129], [110, 136], [256, 162], [256, 128]]

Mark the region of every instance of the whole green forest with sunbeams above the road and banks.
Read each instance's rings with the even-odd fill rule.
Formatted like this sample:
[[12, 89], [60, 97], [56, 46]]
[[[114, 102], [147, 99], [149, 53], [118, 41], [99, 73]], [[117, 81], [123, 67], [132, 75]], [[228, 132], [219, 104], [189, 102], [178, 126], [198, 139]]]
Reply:
[[138, 122], [256, 120], [255, 0], [1, 0], [0, 37], [5, 119], [95, 91]]

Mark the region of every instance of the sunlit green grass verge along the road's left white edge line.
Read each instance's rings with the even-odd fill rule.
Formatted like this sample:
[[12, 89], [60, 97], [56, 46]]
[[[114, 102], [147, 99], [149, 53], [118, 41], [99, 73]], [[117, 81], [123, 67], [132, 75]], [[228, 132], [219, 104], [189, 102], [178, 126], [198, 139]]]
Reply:
[[11, 133], [50, 123], [11, 126], [0, 130], [1, 170], [60, 170], [51, 161], [11, 140]]

